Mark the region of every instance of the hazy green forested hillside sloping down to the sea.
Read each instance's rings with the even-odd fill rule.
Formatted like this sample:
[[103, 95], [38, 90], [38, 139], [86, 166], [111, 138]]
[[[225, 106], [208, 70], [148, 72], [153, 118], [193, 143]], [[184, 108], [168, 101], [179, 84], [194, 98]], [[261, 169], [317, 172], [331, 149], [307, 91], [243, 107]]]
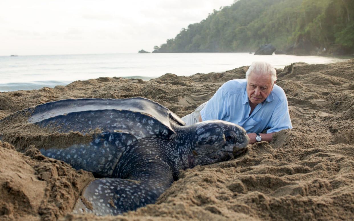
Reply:
[[354, 53], [354, 0], [235, 1], [154, 52], [249, 52], [265, 43], [286, 53]]

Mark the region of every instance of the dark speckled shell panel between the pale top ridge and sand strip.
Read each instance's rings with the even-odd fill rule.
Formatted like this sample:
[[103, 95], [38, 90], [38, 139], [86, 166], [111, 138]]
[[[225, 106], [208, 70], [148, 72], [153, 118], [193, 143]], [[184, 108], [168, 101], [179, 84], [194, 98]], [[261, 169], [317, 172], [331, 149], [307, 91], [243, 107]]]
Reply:
[[95, 129], [105, 132], [126, 131], [137, 139], [155, 136], [171, 139], [171, 136], [176, 134], [170, 122], [168, 124], [166, 121], [161, 122], [155, 116], [144, 112], [116, 109], [71, 112], [35, 124], [53, 128], [61, 133], [78, 131], [84, 135]]

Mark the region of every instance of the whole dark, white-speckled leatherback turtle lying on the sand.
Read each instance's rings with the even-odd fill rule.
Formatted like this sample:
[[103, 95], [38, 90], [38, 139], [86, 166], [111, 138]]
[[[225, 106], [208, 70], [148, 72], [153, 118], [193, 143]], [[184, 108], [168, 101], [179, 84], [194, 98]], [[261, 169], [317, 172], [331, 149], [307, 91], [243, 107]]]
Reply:
[[[8, 126], [24, 116], [36, 129], [59, 137], [59, 145], [46, 139], [49, 135], [30, 139], [2, 130], [4, 141], [9, 138], [16, 146], [16, 141], [29, 145], [45, 140], [37, 145], [44, 156], [97, 178], [82, 191], [74, 213], [117, 215], [154, 203], [180, 169], [228, 160], [249, 142], [236, 124], [211, 120], [185, 126], [169, 109], [145, 98], [54, 101], [18, 111], [0, 123]], [[76, 134], [72, 140], [79, 141], [61, 141], [61, 134]]]

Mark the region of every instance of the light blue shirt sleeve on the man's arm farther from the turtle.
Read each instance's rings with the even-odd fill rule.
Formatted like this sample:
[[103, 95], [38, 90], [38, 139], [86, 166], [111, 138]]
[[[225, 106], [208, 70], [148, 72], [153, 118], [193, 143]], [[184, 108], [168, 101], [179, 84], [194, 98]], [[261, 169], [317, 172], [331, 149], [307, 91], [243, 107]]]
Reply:
[[278, 104], [275, 106], [268, 127], [267, 133], [292, 128], [286, 96], [285, 99], [279, 100]]

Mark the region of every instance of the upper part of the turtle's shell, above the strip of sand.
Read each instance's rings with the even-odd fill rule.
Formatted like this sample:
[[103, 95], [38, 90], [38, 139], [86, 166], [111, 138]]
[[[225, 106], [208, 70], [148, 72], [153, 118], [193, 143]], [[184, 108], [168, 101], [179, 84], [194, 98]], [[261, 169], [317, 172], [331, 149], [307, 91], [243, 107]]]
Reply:
[[86, 134], [99, 129], [102, 132], [129, 133], [137, 139], [171, 139], [176, 134], [171, 121], [185, 124], [166, 107], [140, 97], [67, 99], [22, 111], [30, 113], [29, 123], [40, 127], [55, 127], [59, 133], [77, 131]]

